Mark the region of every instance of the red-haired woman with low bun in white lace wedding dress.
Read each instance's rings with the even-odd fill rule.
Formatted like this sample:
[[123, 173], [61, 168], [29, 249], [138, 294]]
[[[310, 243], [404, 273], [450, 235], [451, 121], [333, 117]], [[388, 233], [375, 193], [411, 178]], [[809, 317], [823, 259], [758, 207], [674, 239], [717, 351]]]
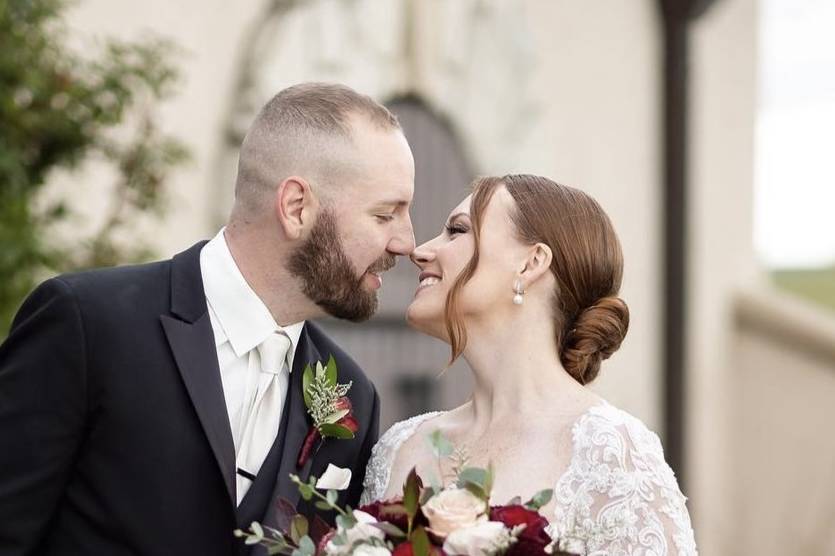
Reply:
[[696, 554], [658, 437], [586, 387], [629, 324], [620, 244], [597, 202], [543, 177], [482, 178], [412, 261], [420, 286], [407, 320], [464, 357], [473, 392], [391, 427], [363, 502], [397, 495], [415, 466], [435, 472], [426, 436], [440, 430], [468, 464], [492, 462], [494, 503], [554, 485], [541, 511], [564, 550]]

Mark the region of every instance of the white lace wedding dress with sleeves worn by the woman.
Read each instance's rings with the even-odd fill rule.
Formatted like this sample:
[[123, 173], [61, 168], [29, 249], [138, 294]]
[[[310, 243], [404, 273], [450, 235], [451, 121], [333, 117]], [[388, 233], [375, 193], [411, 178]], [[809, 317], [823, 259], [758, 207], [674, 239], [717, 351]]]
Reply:
[[[386, 492], [397, 450], [426, 413], [392, 426], [374, 447], [362, 503]], [[658, 436], [609, 404], [586, 411], [573, 425], [573, 454], [554, 487], [550, 533], [560, 548], [594, 556], [690, 556], [696, 542], [672, 469]]]

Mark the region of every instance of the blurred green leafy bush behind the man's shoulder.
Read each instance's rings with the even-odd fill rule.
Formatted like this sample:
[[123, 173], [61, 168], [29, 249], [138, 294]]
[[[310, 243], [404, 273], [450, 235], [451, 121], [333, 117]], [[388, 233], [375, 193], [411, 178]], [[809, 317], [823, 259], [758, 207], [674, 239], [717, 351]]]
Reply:
[[[81, 57], [66, 44], [66, 6], [0, 0], [0, 337], [44, 276], [149, 257], [145, 245], [115, 237], [142, 213], [162, 214], [165, 179], [188, 157], [154, 118], [177, 82], [173, 45], [111, 40]], [[51, 228], [74, 214], [64, 200], [43, 201], [43, 187], [91, 159], [118, 172], [101, 192], [110, 196], [103, 223], [88, 237], [54, 238]]]

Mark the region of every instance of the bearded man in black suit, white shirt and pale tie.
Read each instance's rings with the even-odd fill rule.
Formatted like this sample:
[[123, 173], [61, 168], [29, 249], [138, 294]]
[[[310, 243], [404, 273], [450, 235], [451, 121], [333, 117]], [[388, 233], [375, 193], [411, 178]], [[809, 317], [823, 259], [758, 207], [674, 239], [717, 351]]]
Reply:
[[[0, 554], [246, 554], [233, 530], [275, 524], [278, 498], [299, 503], [289, 475], [329, 464], [352, 471], [340, 503], [356, 505], [379, 399], [309, 319], [374, 313], [414, 248], [413, 188], [386, 108], [297, 85], [247, 133], [214, 239], [41, 284], [0, 346]], [[356, 434], [299, 465], [302, 371], [331, 355]]]

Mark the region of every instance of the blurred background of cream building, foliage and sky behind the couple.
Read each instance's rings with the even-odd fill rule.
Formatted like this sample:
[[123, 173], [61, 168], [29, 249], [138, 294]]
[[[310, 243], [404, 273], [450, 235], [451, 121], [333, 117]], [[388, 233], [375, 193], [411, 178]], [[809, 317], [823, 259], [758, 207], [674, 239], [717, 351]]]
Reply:
[[[701, 552], [835, 554], [833, 29], [833, 0], [0, 0], [0, 338], [50, 275], [214, 235], [259, 107], [340, 81], [403, 124], [419, 242], [477, 175], [596, 197], [632, 325], [594, 387], [661, 434]], [[405, 327], [415, 284], [324, 322], [383, 426], [469, 385]]]

